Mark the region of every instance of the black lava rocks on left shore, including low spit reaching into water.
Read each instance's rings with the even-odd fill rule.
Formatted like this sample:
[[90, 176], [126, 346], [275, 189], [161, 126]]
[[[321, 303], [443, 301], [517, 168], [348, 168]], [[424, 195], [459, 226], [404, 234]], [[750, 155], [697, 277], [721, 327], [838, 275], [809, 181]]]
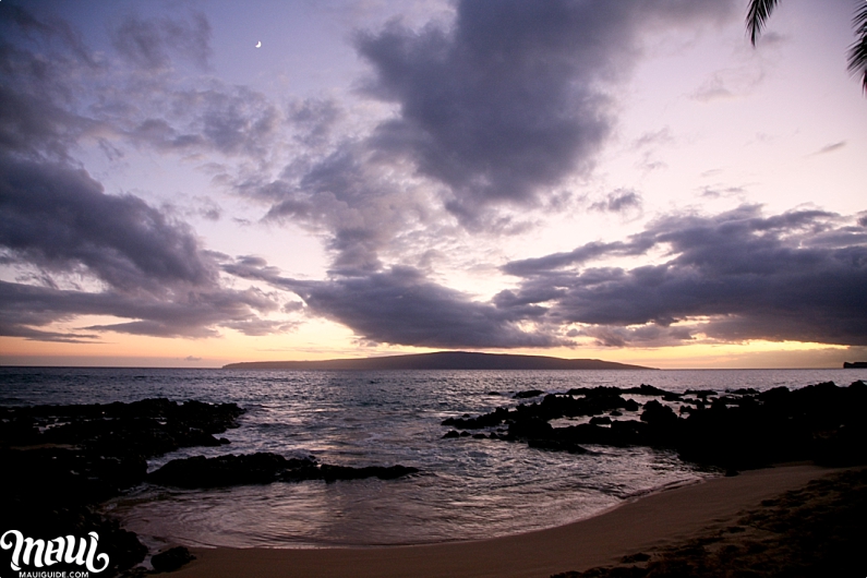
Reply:
[[[183, 447], [228, 444], [216, 435], [237, 428], [243, 411], [236, 404], [168, 399], [0, 407], [4, 530], [14, 529], [35, 540], [97, 532], [99, 552], [107, 553], [110, 562], [100, 577], [111, 577], [142, 562], [147, 547], [105, 515], [100, 504], [143, 482], [213, 487], [280, 480], [393, 479], [418, 471], [402, 466], [347, 468], [313, 458], [254, 454], [172, 460], [148, 475], [148, 458]], [[162, 571], [185, 562], [177, 549], [152, 558], [154, 568]], [[68, 573], [80, 569], [63, 564], [51, 567]]]

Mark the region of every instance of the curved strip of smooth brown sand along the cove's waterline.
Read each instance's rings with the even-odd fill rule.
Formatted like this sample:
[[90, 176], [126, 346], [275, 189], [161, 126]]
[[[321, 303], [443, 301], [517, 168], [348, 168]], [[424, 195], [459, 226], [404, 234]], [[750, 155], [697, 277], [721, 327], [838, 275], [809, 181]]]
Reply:
[[369, 549], [194, 549], [178, 578], [549, 577], [659, 549], [838, 469], [785, 465], [717, 478], [627, 502], [599, 516], [522, 534], [444, 544]]

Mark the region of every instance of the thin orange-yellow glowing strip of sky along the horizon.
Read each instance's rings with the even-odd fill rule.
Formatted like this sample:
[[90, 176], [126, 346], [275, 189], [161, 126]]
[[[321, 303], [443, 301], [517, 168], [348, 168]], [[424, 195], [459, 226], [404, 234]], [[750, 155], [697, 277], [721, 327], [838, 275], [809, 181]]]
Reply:
[[[441, 350], [399, 346], [364, 347], [349, 329], [327, 322], [311, 323], [303, 330], [279, 336], [256, 337], [225, 330], [220, 337], [201, 339], [122, 334], [105, 334], [103, 339], [94, 344], [68, 344], [2, 337], [0, 364], [219, 368], [240, 361], [325, 360]], [[841, 368], [843, 361], [867, 357], [867, 351], [860, 348], [794, 341], [701, 344], [654, 349], [581, 347], [478, 351], [602, 359], [658, 369]]]

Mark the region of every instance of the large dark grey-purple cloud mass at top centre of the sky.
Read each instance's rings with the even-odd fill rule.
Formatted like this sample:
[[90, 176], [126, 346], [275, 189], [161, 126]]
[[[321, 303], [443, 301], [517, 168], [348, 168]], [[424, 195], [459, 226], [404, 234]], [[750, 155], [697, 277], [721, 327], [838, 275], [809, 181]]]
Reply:
[[[569, 193], [556, 185], [592, 167], [643, 31], [695, 26], [727, 16], [732, 5], [458, 2], [448, 26], [414, 31], [395, 21], [359, 32], [356, 47], [374, 73], [362, 94], [398, 104], [397, 113], [330, 150], [313, 130], [298, 140], [313, 148], [279, 176], [262, 171], [233, 186], [272, 203], [268, 220], [325, 234], [332, 270], [347, 275], [397, 264], [383, 253], [455, 217], [473, 232], [525, 230], [507, 210], [565, 206]], [[289, 122], [329, 128], [335, 110], [296, 107]], [[637, 193], [617, 191], [593, 208], [625, 212], [640, 203]], [[421, 237], [436, 243], [435, 234]]]

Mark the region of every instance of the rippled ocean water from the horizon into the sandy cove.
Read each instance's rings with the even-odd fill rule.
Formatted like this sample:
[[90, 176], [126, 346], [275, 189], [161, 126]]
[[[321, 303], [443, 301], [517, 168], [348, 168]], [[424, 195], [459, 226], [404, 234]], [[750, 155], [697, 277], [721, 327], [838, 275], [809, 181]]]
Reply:
[[[152, 547], [328, 547], [493, 538], [561, 526], [660, 489], [720, 475], [647, 447], [573, 455], [498, 439], [444, 439], [441, 422], [515, 407], [517, 392], [649, 384], [671, 392], [798, 388], [867, 381], [867, 370], [236, 371], [0, 368], [0, 405], [166, 397], [236, 402], [231, 445], [195, 455], [273, 451], [341, 466], [412, 466], [397, 480], [305, 481], [207, 491], [143, 484], [105, 508]], [[639, 402], [642, 396], [633, 397]], [[559, 420], [557, 425], [589, 418]], [[636, 416], [624, 416], [636, 419]]]

